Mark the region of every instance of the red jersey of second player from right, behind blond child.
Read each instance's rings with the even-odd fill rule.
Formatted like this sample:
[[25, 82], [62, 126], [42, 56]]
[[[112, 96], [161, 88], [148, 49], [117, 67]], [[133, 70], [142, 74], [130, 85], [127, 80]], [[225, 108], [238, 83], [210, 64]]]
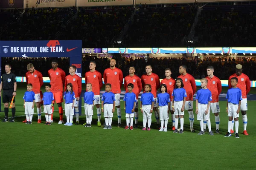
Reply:
[[212, 78], [207, 76], [206, 79], [208, 80], [207, 88], [212, 93], [211, 103], [218, 102], [218, 96], [221, 94], [221, 90], [222, 90], [221, 80], [216, 76], [213, 76]]

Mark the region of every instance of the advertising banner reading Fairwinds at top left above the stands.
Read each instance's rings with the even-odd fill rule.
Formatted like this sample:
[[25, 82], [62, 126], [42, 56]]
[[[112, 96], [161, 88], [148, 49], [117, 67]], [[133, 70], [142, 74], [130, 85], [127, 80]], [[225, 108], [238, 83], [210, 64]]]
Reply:
[[71, 7], [76, 6], [76, 0], [27, 0], [28, 8], [40, 7]]

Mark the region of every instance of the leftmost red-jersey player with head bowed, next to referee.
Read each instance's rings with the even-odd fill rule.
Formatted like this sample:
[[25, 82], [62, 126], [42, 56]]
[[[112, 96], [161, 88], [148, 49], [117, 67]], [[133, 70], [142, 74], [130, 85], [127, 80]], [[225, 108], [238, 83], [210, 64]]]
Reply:
[[[32, 63], [29, 63], [27, 65], [27, 70], [28, 72], [26, 72], [26, 83], [31, 83], [33, 85], [32, 91], [35, 93], [35, 104], [38, 112], [38, 123], [41, 123], [40, 88], [43, 85], [43, 76], [39, 71], [35, 70], [35, 67]], [[23, 122], [26, 122], [26, 120], [24, 120]]]

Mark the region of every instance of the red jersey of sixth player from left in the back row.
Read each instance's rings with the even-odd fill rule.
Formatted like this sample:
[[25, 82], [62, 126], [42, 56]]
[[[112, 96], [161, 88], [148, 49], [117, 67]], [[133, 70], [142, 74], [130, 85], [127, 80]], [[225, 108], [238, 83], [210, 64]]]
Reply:
[[136, 94], [136, 98], [139, 99], [139, 94], [140, 94], [140, 91], [142, 90], [142, 84], [140, 81], [140, 77], [138, 77], [136, 75], [134, 75], [132, 77], [130, 75], [128, 75], [125, 77], [124, 86], [125, 86], [126, 93], [128, 92], [127, 85], [129, 83], [132, 83], [134, 85], [132, 92], [134, 92], [134, 94]]

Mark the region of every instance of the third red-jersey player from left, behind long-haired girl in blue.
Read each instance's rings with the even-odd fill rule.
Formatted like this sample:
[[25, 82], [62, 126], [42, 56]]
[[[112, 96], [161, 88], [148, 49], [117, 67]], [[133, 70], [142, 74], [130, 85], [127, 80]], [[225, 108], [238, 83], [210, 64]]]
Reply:
[[[69, 73], [70, 75], [67, 75], [65, 78], [65, 85], [64, 85], [64, 91], [67, 89], [67, 84], [71, 83], [73, 86], [73, 92], [75, 93], [75, 103], [74, 103], [74, 108], [75, 108], [75, 115], [76, 115], [76, 125], [79, 125], [79, 99], [82, 93], [82, 80], [81, 77], [76, 75], [76, 66], [71, 65], [69, 68]], [[59, 122], [58, 124], [62, 124], [63, 122]]]

